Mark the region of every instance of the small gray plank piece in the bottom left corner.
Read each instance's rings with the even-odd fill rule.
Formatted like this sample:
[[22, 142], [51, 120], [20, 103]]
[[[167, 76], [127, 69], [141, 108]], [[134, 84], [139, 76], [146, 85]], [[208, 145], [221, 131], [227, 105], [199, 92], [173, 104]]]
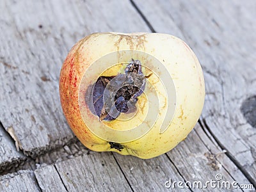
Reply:
[[0, 177], [0, 191], [41, 191], [32, 171], [20, 171]]

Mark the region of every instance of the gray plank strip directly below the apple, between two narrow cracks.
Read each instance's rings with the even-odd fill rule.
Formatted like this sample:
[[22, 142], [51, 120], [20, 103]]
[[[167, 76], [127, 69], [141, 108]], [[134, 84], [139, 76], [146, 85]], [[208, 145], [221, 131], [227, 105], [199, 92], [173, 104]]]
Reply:
[[[170, 191], [165, 187], [165, 182], [170, 178], [184, 182], [165, 154], [154, 159], [138, 159], [116, 153], [114, 156], [134, 191]], [[172, 191], [179, 191], [179, 188], [174, 188]]]

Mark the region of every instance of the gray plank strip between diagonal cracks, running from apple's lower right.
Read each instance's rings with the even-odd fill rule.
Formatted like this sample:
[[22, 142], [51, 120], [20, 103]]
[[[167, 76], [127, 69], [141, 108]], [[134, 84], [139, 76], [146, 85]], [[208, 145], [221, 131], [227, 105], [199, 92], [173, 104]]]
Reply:
[[[198, 130], [201, 128], [196, 124], [195, 129]], [[193, 130], [186, 140], [179, 143], [177, 147], [167, 153], [185, 180], [191, 183], [199, 180], [202, 184], [205, 184], [211, 179], [216, 180], [216, 175], [221, 174], [223, 177], [221, 181], [233, 182], [236, 180], [240, 184], [250, 184], [243, 173], [237, 170], [236, 165], [232, 164], [228, 157], [221, 153], [220, 148], [216, 148], [208, 141], [208, 147], [211, 148], [209, 150], [202, 141], [202, 139], [204, 141], [207, 140], [207, 136], [202, 134], [201, 137]], [[219, 155], [215, 155], [218, 153]], [[211, 189], [210, 186], [209, 189]], [[201, 190], [204, 191], [204, 189], [195, 189], [195, 191]], [[223, 189], [216, 188], [214, 191], [223, 191]]]

